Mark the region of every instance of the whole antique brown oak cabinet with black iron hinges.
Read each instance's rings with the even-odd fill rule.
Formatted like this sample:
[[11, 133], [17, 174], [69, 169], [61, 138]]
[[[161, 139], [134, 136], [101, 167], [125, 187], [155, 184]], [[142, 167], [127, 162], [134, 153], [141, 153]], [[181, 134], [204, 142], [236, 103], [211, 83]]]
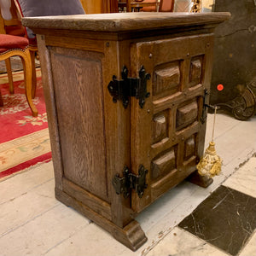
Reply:
[[136, 214], [191, 173], [200, 180], [213, 30], [229, 17], [23, 20], [38, 35], [55, 196], [132, 250], [147, 240]]

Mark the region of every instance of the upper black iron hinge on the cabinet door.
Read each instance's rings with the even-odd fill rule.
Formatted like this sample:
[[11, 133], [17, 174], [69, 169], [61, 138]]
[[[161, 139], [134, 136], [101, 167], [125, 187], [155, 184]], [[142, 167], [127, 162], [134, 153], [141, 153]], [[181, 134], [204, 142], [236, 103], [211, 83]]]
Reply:
[[130, 97], [135, 96], [139, 100], [140, 107], [143, 108], [145, 99], [150, 96], [147, 91], [147, 80], [150, 79], [150, 74], [146, 73], [144, 67], [141, 67], [139, 78], [128, 78], [128, 69], [123, 67], [121, 76], [122, 79], [118, 80], [113, 75], [113, 80], [108, 84], [108, 91], [113, 96], [113, 102], [120, 100], [127, 108]]

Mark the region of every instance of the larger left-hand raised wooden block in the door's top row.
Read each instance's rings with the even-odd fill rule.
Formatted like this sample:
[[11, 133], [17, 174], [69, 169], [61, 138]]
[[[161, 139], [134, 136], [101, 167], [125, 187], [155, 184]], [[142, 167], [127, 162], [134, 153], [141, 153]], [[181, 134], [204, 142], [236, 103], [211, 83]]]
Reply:
[[180, 63], [174, 61], [157, 67], [154, 71], [153, 95], [166, 96], [179, 90], [181, 79]]

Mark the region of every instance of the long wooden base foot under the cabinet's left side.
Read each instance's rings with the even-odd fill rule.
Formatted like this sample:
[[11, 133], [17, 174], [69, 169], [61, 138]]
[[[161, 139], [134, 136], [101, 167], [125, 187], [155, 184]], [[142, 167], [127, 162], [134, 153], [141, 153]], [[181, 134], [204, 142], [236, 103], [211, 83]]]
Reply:
[[107, 230], [117, 241], [129, 247], [132, 251], [136, 251], [148, 240], [136, 220], [132, 220], [130, 224], [127, 224], [122, 229], [60, 189], [55, 188], [55, 197], [68, 207], [73, 207], [78, 212], [81, 212], [86, 218], [89, 218], [104, 230]]

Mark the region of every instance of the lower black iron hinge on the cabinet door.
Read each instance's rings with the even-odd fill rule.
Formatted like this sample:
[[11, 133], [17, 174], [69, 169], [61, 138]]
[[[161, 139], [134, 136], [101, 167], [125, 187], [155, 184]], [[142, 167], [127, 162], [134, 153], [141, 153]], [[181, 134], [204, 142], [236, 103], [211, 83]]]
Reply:
[[129, 168], [125, 166], [123, 177], [115, 175], [112, 180], [116, 194], [123, 194], [127, 198], [131, 195], [131, 189], [135, 189], [137, 195], [141, 198], [144, 194], [144, 189], [148, 187], [146, 184], [147, 173], [148, 170], [143, 165], [139, 167], [138, 175], [131, 173]]

